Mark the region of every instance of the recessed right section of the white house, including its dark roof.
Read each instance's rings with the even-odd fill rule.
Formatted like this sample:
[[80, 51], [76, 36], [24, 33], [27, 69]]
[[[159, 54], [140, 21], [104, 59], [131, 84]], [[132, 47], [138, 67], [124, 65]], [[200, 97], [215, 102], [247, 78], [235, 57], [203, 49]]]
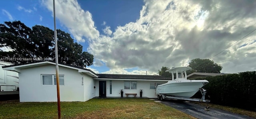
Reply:
[[[157, 98], [155, 87], [170, 80], [158, 75], [130, 75], [130, 74], [98, 74], [98, 78], [93, 78], [96, 88], [96, 96], [99, 97], [120, 97], [120, 90], [125, 94], [137, 94], [148, 98]], [[106, 88], [105, 88], [106, 87]], [[133, 95], [128, 95], [134, 97]]]

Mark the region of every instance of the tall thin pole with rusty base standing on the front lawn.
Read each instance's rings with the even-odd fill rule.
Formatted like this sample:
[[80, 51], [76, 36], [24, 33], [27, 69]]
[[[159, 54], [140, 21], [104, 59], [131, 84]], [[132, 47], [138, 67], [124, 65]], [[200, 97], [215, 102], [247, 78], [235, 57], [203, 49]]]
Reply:
[[58, 119], [60, 119], [60, 84], [59, 84], [57, 31], [56, 31], [56, 20], [55, 20], [55, 0], [53, 0], [53, 18], [54, 18], [54, 42], [55, 42], [55, 62], [56, 62], [56, 85], [57, 85], [57, 100], [58, 100]]

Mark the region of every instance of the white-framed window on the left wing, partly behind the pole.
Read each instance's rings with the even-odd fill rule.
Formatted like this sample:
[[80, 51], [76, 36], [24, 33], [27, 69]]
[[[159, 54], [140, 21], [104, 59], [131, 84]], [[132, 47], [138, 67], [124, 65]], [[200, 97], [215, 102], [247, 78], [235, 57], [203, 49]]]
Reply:
[[[60, 85], [64, 85], [64, 75], [59, 75]], [[56, 75], [42, 75], [42, 85], [56, 85]]]

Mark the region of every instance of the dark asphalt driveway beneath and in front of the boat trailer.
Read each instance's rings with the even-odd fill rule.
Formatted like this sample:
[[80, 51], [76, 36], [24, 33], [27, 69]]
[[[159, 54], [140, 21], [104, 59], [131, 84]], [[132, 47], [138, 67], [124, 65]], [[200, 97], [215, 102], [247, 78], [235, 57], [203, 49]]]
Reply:
[[[159, 101], [155, 99], [155, 101]], [[224, 111], [221, 109], [214, 109], [210, 107], [210, 111], [205, 111], [204, 105], [190, 103], [189, 101], [165, 100], [161, 101], [163, 104], [174, 107], [184, 113], [192, 115], [198, 119], [254, 119], [245, 115]]]

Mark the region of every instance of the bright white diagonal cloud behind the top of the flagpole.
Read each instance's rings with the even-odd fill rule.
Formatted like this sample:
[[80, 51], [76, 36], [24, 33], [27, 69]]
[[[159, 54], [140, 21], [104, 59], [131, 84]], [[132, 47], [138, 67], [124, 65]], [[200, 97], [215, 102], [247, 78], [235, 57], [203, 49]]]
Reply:
[[[52, 0], [42, 0], [42, 4], [53, 12]], [[99, 31], [94, 26], [92, 14], [84, 11], [76, 0], [56, 0], [56, 18], [65, 25], [78, 42], [85, 38], [91, 40], [99, 37]]]

